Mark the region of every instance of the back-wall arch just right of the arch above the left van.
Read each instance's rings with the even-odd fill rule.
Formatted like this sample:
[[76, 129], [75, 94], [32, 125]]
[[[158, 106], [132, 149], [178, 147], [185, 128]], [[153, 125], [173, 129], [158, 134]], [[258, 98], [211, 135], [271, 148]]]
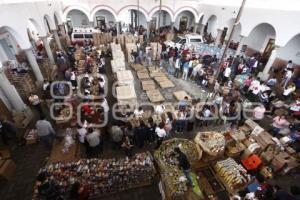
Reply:
[[115, 16], [108, 10], [98, 10], [94, 17], [94, 26], [100, 29], [112, 28], [115, 25]]

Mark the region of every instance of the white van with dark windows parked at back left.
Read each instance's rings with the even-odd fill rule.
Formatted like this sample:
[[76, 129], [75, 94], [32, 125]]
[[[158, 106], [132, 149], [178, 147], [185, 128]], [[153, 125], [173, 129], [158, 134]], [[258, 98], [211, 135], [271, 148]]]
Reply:
[[74, 28], [71, 41], [72, 44], [82, 45], [85, 40], [93, 41], [93, 33], [100, 32], [94, 28]]

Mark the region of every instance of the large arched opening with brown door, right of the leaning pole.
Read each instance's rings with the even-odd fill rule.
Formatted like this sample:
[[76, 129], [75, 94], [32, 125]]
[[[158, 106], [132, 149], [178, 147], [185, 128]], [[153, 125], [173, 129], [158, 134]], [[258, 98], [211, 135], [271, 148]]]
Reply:
[[245, 40], [246, 55], [261, 54], [260, 61], [266, 64], [275, 47], [276, 31], [268, 23], [261, 23], [254, 27]]

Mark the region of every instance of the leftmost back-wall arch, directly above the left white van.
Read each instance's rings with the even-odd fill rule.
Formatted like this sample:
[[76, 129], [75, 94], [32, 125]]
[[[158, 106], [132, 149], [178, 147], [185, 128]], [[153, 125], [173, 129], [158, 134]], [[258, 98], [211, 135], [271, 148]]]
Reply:
[[89, 18], [81, 10], [70, 10], [67, 14], [67, 26], [68, 28], [90, 27]]

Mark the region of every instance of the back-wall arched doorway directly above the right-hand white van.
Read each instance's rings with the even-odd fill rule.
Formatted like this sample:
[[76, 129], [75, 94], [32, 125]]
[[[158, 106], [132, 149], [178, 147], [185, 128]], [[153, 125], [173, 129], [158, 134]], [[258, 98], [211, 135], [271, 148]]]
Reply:
[[175, 27], [179, 30], [179, 32], [188, 31], [194, 25], [195, 16], [191, 11], [182, 11], [175, 18]]

